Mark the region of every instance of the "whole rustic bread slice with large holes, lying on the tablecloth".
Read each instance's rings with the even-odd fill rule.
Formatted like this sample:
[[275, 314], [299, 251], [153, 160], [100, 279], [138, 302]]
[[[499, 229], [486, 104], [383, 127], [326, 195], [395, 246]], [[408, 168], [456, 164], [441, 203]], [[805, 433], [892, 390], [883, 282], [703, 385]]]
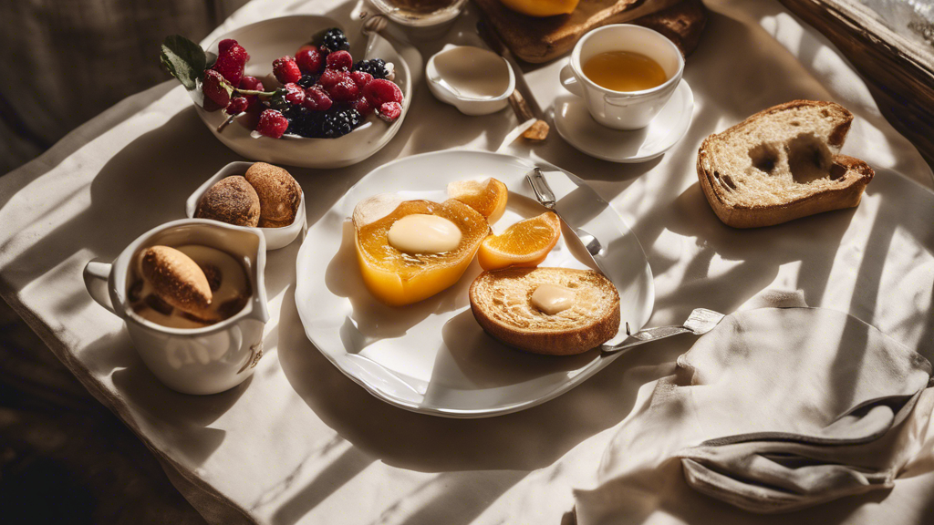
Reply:
[[874, 172], [840, 154], [852, 122], [839, 104], [794, 100], [708, 136], [697, 171], [716, 216], [755, 228], [858, 205]]

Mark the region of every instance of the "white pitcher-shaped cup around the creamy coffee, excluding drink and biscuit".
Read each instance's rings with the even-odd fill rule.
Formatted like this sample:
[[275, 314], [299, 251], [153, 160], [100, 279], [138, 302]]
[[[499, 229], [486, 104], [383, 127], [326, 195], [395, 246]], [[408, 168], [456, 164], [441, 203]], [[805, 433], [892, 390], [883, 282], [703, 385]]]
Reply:
[[[252, 291], [247, 305], [229, 319], [196, 329], [170, 328], [136, 315], [128, 299], [135, 254], [155, 245], [191, 244], [225, 251], [243, 264]], [[84, 283], [94, 301], [125, 321], [139, 357], [165, 386], [212, 394], [242, 383], [262, 357], [262, 330], [269, 320], [265, 265], [265, 240], [259, 230], [216, 220], [175, 220], [137, 237], [112, 263], [88, 262]]]

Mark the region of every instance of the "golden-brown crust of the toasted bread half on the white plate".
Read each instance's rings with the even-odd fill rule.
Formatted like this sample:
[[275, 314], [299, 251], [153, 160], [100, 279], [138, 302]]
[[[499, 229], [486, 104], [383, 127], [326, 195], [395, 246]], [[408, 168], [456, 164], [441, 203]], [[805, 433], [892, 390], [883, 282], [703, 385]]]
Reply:
[[[599, 287], [607, 297], [609, 303], [603, 308], [604, 315], [599, 319], [588, 319], [585, 324], [573, 327], [564, 327], [554, 330], [530, 330], [515, 324], [503, 322], [502, 316], [488, 307], [488, 301], [483, 300], [483, 294], [489, 292], [491, 286], [496, 286], [499, 279], [521, 279], [529, 274], [537, 273], [563, 273], [579, 277], [578, 280], [587, 286]], [[546, 279], [546, 277], [545, 277]], [[531, 295], [531, 291], [528, 294]], [[619, 331], [619, 294], [609, 279], [592, 270], [575, 270], [570, 268], [505, 268], [480, 274], [470, 287], [470, 304], [477, 323], [503, 344], [526, 352], [546, 355], [576, 355], [584, 353], [591, 348], [612, 339]], [[526, 298], [522, 298], [528, 300]], [[531, 306], [529, 306], [531, 308]]]

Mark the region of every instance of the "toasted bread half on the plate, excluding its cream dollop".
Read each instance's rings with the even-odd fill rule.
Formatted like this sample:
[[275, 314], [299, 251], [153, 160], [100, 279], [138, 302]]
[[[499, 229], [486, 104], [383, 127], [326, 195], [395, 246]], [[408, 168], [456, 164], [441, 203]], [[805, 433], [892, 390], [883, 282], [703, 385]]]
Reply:
[[[531, 304], [543, 284], [574, 291], [571, 307], [546, 315]], [[510, 347], [550, 355], [573, 355], [605, 343], [619, 330], [619, 292], [592, 270], [505, 268], [484, 272], [470, 287], [474, 318]]]

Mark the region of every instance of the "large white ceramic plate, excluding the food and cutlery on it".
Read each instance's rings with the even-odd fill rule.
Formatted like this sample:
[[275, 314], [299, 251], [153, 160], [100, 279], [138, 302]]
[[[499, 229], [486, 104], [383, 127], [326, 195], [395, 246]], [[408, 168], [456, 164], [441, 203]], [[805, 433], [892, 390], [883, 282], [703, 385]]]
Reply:
[[[573, 175], [540, 164], [564, 215], [608, 247], [620, 314], [639, 329], [655, 302], [652, 270], [639, 241], [616, 211]], [[297, 260], [295, 303], [305, 333], [334, 366], [389, 404], [447, 418], [486, 418], [557, 397], [612, 362], [599, 349], [571, 357], [506, 348], [474, 320], [467, 290], [481, 269], [475, 261], [460, 281], [416, 305], [378, 303], [362, 282], [348, 218], [362, 199], [383, 192], [440, 201], [448, 182], [496, 177], [509, 188], [501, 233], [545, 211], [525, 182], [529, 160], [481, 151], [448, 150], [407, 157], [376, 168], [308, 231]], [[543, 266], [587, 268], [583, 247], [561, 235]], [[582, 258], [582, 260], [586, 260]], [[622, 325], [622, 324], [621, 324]], [[624, 337], [617, 335], [616, 340]]]

